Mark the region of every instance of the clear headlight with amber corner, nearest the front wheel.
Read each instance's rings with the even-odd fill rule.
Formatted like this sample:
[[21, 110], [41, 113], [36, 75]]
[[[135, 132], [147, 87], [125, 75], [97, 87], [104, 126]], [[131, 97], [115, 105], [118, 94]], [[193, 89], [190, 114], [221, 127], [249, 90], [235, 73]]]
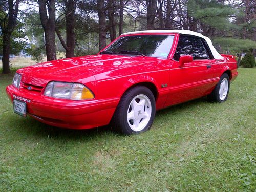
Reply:
[[50, 82], [44, 95], [61, 99], [84, 100], [93, 99], [93, 93], [83, 84], [67, 82]]

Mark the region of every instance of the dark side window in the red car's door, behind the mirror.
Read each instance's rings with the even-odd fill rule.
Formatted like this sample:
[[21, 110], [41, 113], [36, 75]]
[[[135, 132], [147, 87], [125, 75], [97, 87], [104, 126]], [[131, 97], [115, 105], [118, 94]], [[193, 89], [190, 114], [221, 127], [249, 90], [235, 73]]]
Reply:
[[193, 60], [209, 59], [209, 55], [200, 38], [191, 36], [179, 37], [179, 42], [174, 53], [174, 59], [179, 60], [182, 55], [192, 55]]

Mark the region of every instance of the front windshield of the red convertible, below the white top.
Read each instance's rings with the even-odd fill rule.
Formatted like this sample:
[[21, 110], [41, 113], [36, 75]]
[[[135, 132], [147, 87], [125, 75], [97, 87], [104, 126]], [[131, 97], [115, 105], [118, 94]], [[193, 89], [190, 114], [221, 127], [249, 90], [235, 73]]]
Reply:
[[129, 54], [167, 58], [173, 35], [132, 35], [120, 37], [101, 54]]

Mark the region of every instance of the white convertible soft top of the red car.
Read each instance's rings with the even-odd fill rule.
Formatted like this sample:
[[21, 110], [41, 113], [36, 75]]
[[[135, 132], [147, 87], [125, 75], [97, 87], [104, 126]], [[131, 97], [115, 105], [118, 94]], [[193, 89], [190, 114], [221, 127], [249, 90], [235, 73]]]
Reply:
[[223, 59], [224, 58], [220, 55], [220, 53], [218, 53], [218, 51], [216, 51], [216, 49], [212, 45], [210, 38], [202, 35], [201, 33], [197, 33], [197, 32], [190, 31], [190, 30], [147, 30], [147, 31], [134, 31], [134, 32], [129, 32], [129, 33], [123, 33], [122, 35], [130, 35], [130, 34], [137, 34], [137, 33], [179, 33], [179, 34], [184, 34], [184, 35], [198, 36], [198, 37], [205, 39], [205, 41], [207, 42], [207, 44], [211, 50], [212, 56], [214, 56], [215, 59]]

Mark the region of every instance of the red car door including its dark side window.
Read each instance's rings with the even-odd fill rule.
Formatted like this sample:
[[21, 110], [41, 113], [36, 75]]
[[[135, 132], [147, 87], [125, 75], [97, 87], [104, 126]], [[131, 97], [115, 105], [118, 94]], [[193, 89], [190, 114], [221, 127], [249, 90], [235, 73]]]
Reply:
[[[212, 88], [211, 65], [215, 60], [204, 44], [203, 39], [196, 36], [179, 36], [176, 51], [170, 60], [170, 94], [166, 106], [202, 97]], [[193, 62], [179, 67], [182, 55], [192, 55]]]

